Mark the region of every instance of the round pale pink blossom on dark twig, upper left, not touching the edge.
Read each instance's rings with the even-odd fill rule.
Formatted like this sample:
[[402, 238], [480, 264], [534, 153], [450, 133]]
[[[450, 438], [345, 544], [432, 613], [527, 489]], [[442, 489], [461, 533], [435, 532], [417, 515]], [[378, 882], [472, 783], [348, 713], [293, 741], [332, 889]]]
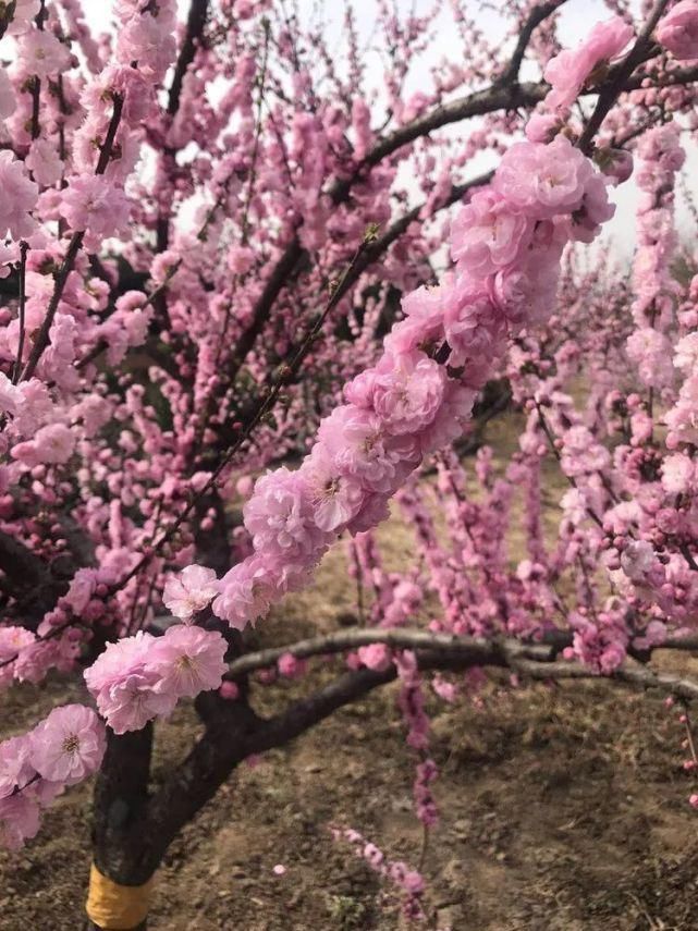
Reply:
[[128, 221], [128, 200], [122, 189], [102, 175], [72, 177], [63, 192], [61, 216], [72, 230], [89, 230], [98, 237], [113, 236]]

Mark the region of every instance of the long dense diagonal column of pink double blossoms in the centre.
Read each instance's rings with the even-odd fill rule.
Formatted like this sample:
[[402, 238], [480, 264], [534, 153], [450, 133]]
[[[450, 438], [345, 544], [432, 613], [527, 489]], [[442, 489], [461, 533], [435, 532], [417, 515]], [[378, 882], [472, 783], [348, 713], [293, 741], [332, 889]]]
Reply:
[[383, 356], [346, 385], [301, 468], [257, 481], [244, 509], [254, 552], [220, 580], [219, 617], [242, 629], [304, 584], [340, 534], [383, 519], [424, 456], [463, 431], [506, 336], [550, 313], [564, 244], [612, 215], [602, 176], [568, 139], [510, 149], [456, 218], [455, 274], [405, 298]]

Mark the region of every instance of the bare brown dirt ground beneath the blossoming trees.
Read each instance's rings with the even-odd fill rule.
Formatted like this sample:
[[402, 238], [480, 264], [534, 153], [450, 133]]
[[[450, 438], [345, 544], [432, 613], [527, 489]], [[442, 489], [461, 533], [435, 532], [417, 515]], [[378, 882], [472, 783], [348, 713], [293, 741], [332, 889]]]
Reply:
[[[403, 562], [405, 534], [389, 526], [381, 536], [389, 560]], [[352, 608], [339, 548], [314, 589], [264, 625], [260, 642], [334, 627]], [[257, 707], [279, 708], [308, 686], [259, 689]], [[478, 701], [457, 706], [430, 698], [441, 817], [424, 863], [426, 927], [698, 929], [698, 813], [687, 805], [698, 779], [682, 769], [676, 712], [604, 683], [505, 686], [493, 679]], [[4, 694], [0, 734], [32, 726], [77, 694], [58, 679]], [[170, 849], [149, 929], [404, 929], [394, 892], [329, 830], [348, 825], [394, 859], [420, 859], [415, 761], [395, 696], [395, 686], [375, 693], [233, 774]], [[156, 781], [197, 730], [191, 707], [158, 728]], [[1, 931], [82, 927], [89, 805], [90, 786], [69, 792], [19, 856], [0, 853]]]

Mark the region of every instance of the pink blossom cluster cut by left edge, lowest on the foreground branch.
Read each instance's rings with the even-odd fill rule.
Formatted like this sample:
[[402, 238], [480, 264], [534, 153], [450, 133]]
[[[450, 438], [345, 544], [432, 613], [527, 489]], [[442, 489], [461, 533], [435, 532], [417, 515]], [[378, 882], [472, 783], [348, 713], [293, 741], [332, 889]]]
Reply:
[[34, 837], [40, 809], [97, 772], [105, 748], [105, 725], [82, 705], [54, 708], [28, 734], [0, 743], [0, 847]]

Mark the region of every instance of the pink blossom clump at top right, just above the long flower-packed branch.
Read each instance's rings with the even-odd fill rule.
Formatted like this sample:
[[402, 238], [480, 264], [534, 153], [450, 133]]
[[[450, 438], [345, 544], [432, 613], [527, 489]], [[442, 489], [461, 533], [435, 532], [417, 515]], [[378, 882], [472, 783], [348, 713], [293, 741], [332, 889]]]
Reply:
[[598, 23], [579, 48], [562, 51], [548, 62], [543, 74], [553, 89], [546, 103], [571, 107], [595, 69], [619, 56], [632, 38], [633, 27], [620, 16]]

